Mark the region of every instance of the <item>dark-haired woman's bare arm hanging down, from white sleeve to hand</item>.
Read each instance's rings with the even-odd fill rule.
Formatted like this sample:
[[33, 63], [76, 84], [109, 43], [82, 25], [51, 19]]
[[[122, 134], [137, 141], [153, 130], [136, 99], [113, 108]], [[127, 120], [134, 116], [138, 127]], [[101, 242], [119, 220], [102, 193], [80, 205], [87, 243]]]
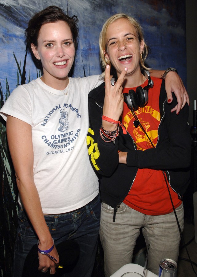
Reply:
[[[41, 250], [50, 249], [53, 245], [49, 228], [46, 224], [40, 197], [33, 179], [33, 143], [31, 125], [13, 116], [7, 116], [6, 132], [9, 150], [14, 165], [16, 182], [23, 207], [36, 232]], [[59, 257], [54, 246], [50, 255], [57, 259]], [[51, 274], [55, 273], [55, 263], [47, 255], [38, 254], [39, 269], [46, 271], [50, 268]]]

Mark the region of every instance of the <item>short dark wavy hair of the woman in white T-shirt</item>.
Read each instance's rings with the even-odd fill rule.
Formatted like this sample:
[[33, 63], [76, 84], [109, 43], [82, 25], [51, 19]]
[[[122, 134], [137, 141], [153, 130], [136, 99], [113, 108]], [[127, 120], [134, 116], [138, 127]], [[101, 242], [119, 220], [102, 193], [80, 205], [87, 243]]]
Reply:
[[75, 51], [77, 50], [79, 39], [77, 16], [73, 15], [72, 17], [69, 17], [67, 14], [64, 13], [64, 11], [61, 8], [57, 6], [49, 6], [44, 10], [41, 10], [34, 14], [28, 23], [27, 29], [25, 30], [26, 43], [31, 53], [31, 44], [33, 43], [37, 47], [37, 38], [42, 25], [44, 25], [45, 23], [57, 22], [59, 20], [65, 21], [68, 24], [73, 35]]

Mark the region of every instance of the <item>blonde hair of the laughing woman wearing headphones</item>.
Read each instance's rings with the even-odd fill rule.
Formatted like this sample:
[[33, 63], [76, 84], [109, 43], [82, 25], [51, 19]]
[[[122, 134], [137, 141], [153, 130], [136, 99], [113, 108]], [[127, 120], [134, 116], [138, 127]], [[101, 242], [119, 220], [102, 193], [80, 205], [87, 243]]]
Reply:
[[[127, 19], [136, 29], [136, 34], [137, 34], [137, 38], [139, 40], [139, 42], [141, 43], [141, 41], [144, 41], [144, 34], [143, 34], [143, 30], [142, 27], [140, 26], [140, 24], [136, 21], [136, 19], [128, 16], [127, 14], [114, 14], [112, 15], [110, 18], [107, 19], [107, 21], [104, 23], [103, 28], [100, 32], [100, 37], [99, 37], [99, 48], [100, 48], [100, 62], [101, 65], [103, 67], [103, 69], [105, 69], [106, 65], [109, 64], [110, 68], [112, 68], [112, 65], [110, 62], [108, 62], [109, 60], [105, 57], [104, 51], [106, 51], [107, 49], [107, 43], [106, 43], [106, 34], [107, 34], [107, 30], [108, 27], [110, 26], [110, 24], [112, 24], [114, 21], [121, 19], [121, 18], [125, 18]], [[140, 55], [140, 68], [145, 69], [145, 70], [149, 70], [150, 68], [146, 67], [144, 62], [145, 59], [148, 56], [148, 52], [149, 52], [149, 47], [146, 45], [146, 43], [144, 42], [144, 49], [142, 51], [142, 55]]]

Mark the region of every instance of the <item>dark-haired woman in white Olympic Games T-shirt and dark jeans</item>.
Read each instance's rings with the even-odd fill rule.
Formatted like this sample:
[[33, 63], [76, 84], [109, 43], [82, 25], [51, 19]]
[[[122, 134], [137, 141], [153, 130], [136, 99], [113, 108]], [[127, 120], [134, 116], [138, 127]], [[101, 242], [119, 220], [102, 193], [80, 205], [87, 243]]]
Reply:
[[[30, 19], [25, 34], [43, 75], [18, 86], [1, 109], [19, 190], [14, 276], [21, 276], [38, 239], [38, 269], [54, 274], [59, 262], [55, 245], [74, 239], [80, 247], [79, 259], [66, 276], [88, 277], [100, 222], [98, 178], [86, 145], [88, 92], [103, 78], [68, 77], [78, 42], [76, 16], [49, 6]], [[182, 86], [176, 74], [168, 86], [173, 83]], [[177, 96], [181, 106], [180, 90]]]

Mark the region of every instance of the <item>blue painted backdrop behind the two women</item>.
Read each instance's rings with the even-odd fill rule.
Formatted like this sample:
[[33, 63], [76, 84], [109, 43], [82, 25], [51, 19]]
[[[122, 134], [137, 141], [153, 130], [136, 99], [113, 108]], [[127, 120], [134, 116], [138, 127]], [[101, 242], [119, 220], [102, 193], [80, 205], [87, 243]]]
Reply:
[[[23, 64], [28, 20], [37, 11], [57, 5], [79, 18], [80, 42], [74, 76], [98, 74], [99, 33], [104, 21], [112, 14], [127, 13], [143, 26], [145, 40], [151, 47], [148, 65], [155, 69], [178, 68], [186, 85], [185, 0], [0, 0], [0, 81], [10, 92], [17, 85], [17, 64]], [[27, 55], [26, 77], [36, 78], [37, 72], [30, 54]], [[26, 80], [28, 82], [28, 80]]]

